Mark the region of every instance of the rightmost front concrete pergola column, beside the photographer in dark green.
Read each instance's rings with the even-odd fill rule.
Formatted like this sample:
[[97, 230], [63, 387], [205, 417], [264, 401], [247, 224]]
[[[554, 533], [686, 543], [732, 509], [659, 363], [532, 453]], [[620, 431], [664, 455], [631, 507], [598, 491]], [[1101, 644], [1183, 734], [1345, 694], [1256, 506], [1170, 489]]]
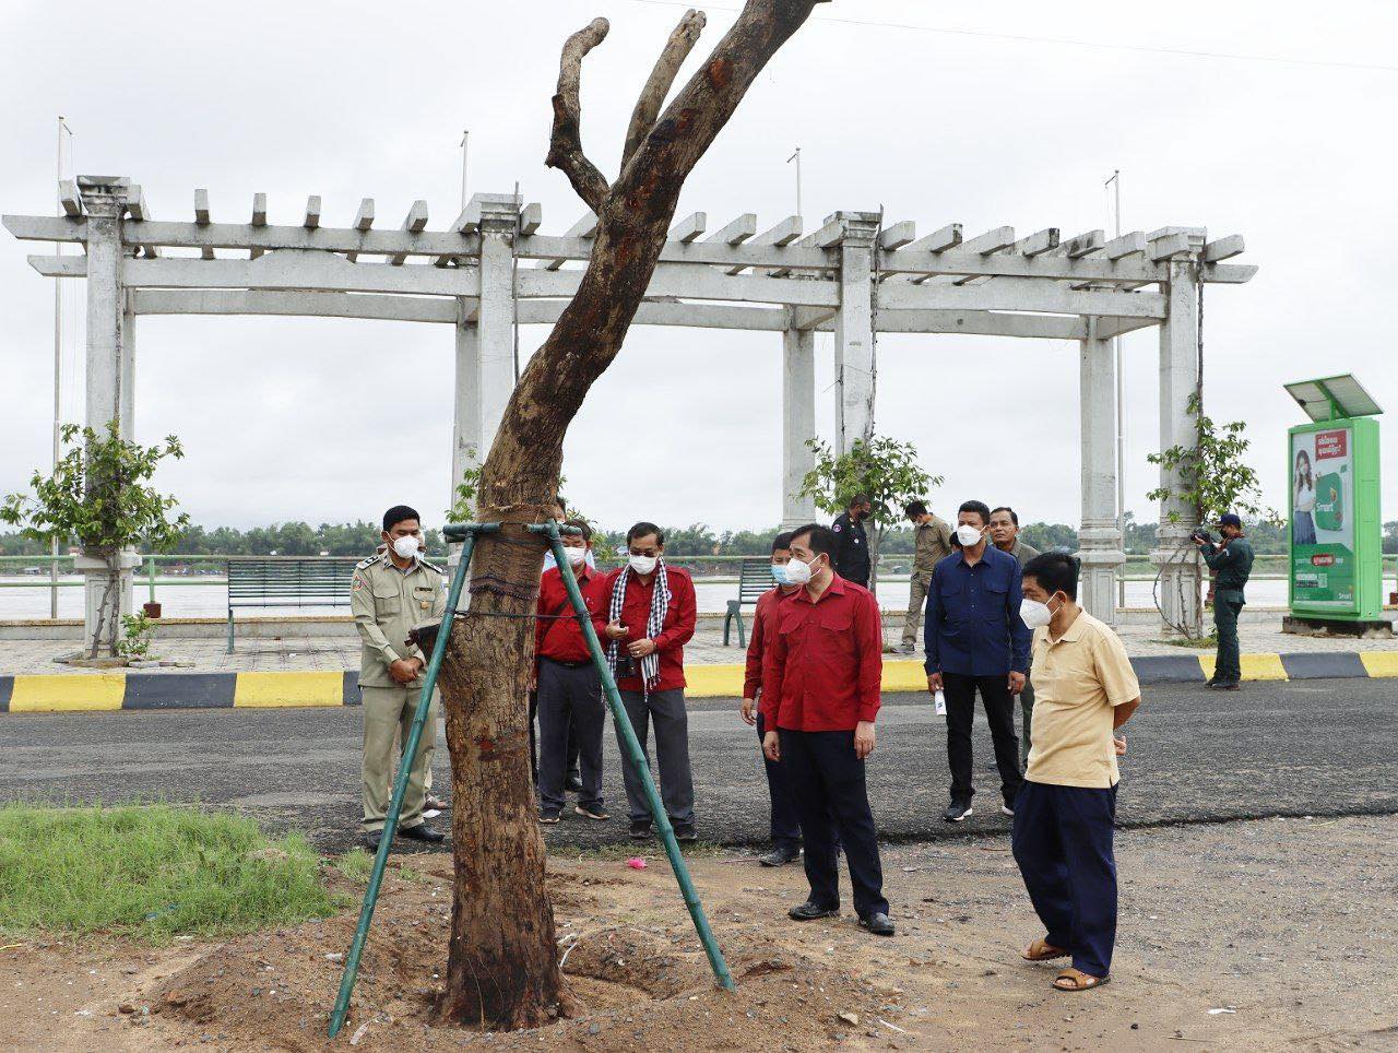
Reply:
[[[1190, 399], [1198, 386], [1198, 250], [1204, 234], [1190, 232], [1190, 255], [1169, 262], [1169, 316], [1160, 324], [1160, 449], [1195, 446], [1198, 434]], [[1160, 487], [1179, 489], [1179, 473], [1160, 468]], [[1194, 509], [1172, 498], [1160, 502], [1160, 526], [1151, 559], [1160, 568], [1160, 608], [1167, 624], [1202, 625], [1199, 558], [1188, 545], [1198, 526]]]

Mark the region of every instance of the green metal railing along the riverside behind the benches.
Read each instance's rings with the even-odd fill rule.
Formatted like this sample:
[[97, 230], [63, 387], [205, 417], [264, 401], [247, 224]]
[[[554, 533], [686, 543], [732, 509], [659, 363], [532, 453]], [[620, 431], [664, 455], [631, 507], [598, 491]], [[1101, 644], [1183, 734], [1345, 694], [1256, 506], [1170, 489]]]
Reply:
[[[621, 564], [621, 557], [614, 552], [607, 552], [603, 550], [596, 550], [597, 562], [600, 566], [611, 568]], [[140, 587], [145, 592], [150, 603], [158, 603], [157, 587], [159, 589], [178, 589], [189, 586], [201, 585], [226, 585], [228, 578], [225, 569], [231, 559], [239, 559], [243, 557], [236, 555], [182, 555], [182, 554], [145, 554], [141, 557], [141, 566], [137, 571], [140, 579]], [[256, 559], [287, 559], [294, 562], [298, 559], [316, 559], [326, 557], [299, 557], [299, 555], [284, 555], [284, 557], [246, 557]], [[352, 566], [358, 557], [331, 557], [344, 559], [345, 566]], [[733, 585], [737, 583], [737, 573], [724, 573], [724, 569], [733, 566], [737, 569], [744, 559], [751, 559], [751, 555], [675, 555], [667, 557], [667, 561], [675, 566], [682, 566], [685, 569], [696, 572], [696, 576], [702, 576], [705, 582], [710, 585]], [[885, 554], [879, 559], [885, 572], [881, 575], [884, 582], [900, 582], [907, 580], [907, 568], [911, 565], [911, 557], [907, 554], [888, 555]], [[7, 571], [8, 566], [21, 566], [24, 571], [14, 573]], [[199, 566], [214, 566], [218, 568], [217, 572], [166, 572], [159, 573], [159, 568], [183, 568], [185, 571], [199, 568]], [[32, 571], [31, 571], [32, 568]], [[1258, 555], [1257, 562], [1253, 565], [1253, 579], [1254, 580], [1286, 580], [1288, 557], [1282, 555]], [[56, 571], [56, 573], [55, 573]], [[71, 555], [0, 555], [0, 589], [45, 589], [50, 590], [50, 608], [57, 610], [57, 590], [59, 589], [81, 589], [81, 580], [60, 580], [59, 575], [74, 575], [73, 557]], [[34, 580], [3, 580], [6, 578], [32, 578]], [[1156, 576], [1155, 565], [1149, 559], [1142, 557], [1132, 557], [1127, 559], [1125, 564], [1117, 568], [1117, 580], [1124, 586], [1127, 582], [1153, 582]], [[1398, 555], [1384, 555], [1383, 558], [1383, 580], [1384, 580], [1384, 600], [1387, 601], [1390, 592], [1398, 592]]]

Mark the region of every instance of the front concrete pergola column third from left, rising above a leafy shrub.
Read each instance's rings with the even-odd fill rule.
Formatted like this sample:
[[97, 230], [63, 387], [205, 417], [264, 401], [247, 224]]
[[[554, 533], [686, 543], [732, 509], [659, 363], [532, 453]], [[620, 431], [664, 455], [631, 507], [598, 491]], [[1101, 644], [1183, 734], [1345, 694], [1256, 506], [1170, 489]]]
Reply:
[[835, 432], [844, 453], [874, 434], [874, 238], [878, 213], [836, 213], [844, 224], [840, 255], [840, 309], [835, 315]]

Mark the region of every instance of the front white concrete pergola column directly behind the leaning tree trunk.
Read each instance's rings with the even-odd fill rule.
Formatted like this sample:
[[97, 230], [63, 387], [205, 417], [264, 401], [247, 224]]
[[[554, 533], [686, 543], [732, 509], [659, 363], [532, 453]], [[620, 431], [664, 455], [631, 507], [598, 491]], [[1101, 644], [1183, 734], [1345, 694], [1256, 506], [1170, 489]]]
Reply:
[[514, 232], [519, 201], [512, 194], [477, 194], [481, 208], [481, 309], [477, 322], [480, 457], [495, 442], [505, 406], [514, 392]]

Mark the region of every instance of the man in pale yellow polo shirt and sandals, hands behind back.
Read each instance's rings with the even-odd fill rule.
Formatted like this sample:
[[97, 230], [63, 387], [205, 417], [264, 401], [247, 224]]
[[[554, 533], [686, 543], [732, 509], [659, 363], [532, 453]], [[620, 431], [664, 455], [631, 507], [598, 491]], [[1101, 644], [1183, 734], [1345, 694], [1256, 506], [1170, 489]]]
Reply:
[[1085, 991], [1111, 976], [1117, 938], [1117, 755], [1113, 733], [1141, 705], [1121, 640], [1078, 606], [1078, 561], [1046, 552], [1023, 571], [1035, 631], [1035, 741], [1015, 801], [1014, 852], [1046, 936], [1026, 961], [1072, 958], [1053, 986]]

